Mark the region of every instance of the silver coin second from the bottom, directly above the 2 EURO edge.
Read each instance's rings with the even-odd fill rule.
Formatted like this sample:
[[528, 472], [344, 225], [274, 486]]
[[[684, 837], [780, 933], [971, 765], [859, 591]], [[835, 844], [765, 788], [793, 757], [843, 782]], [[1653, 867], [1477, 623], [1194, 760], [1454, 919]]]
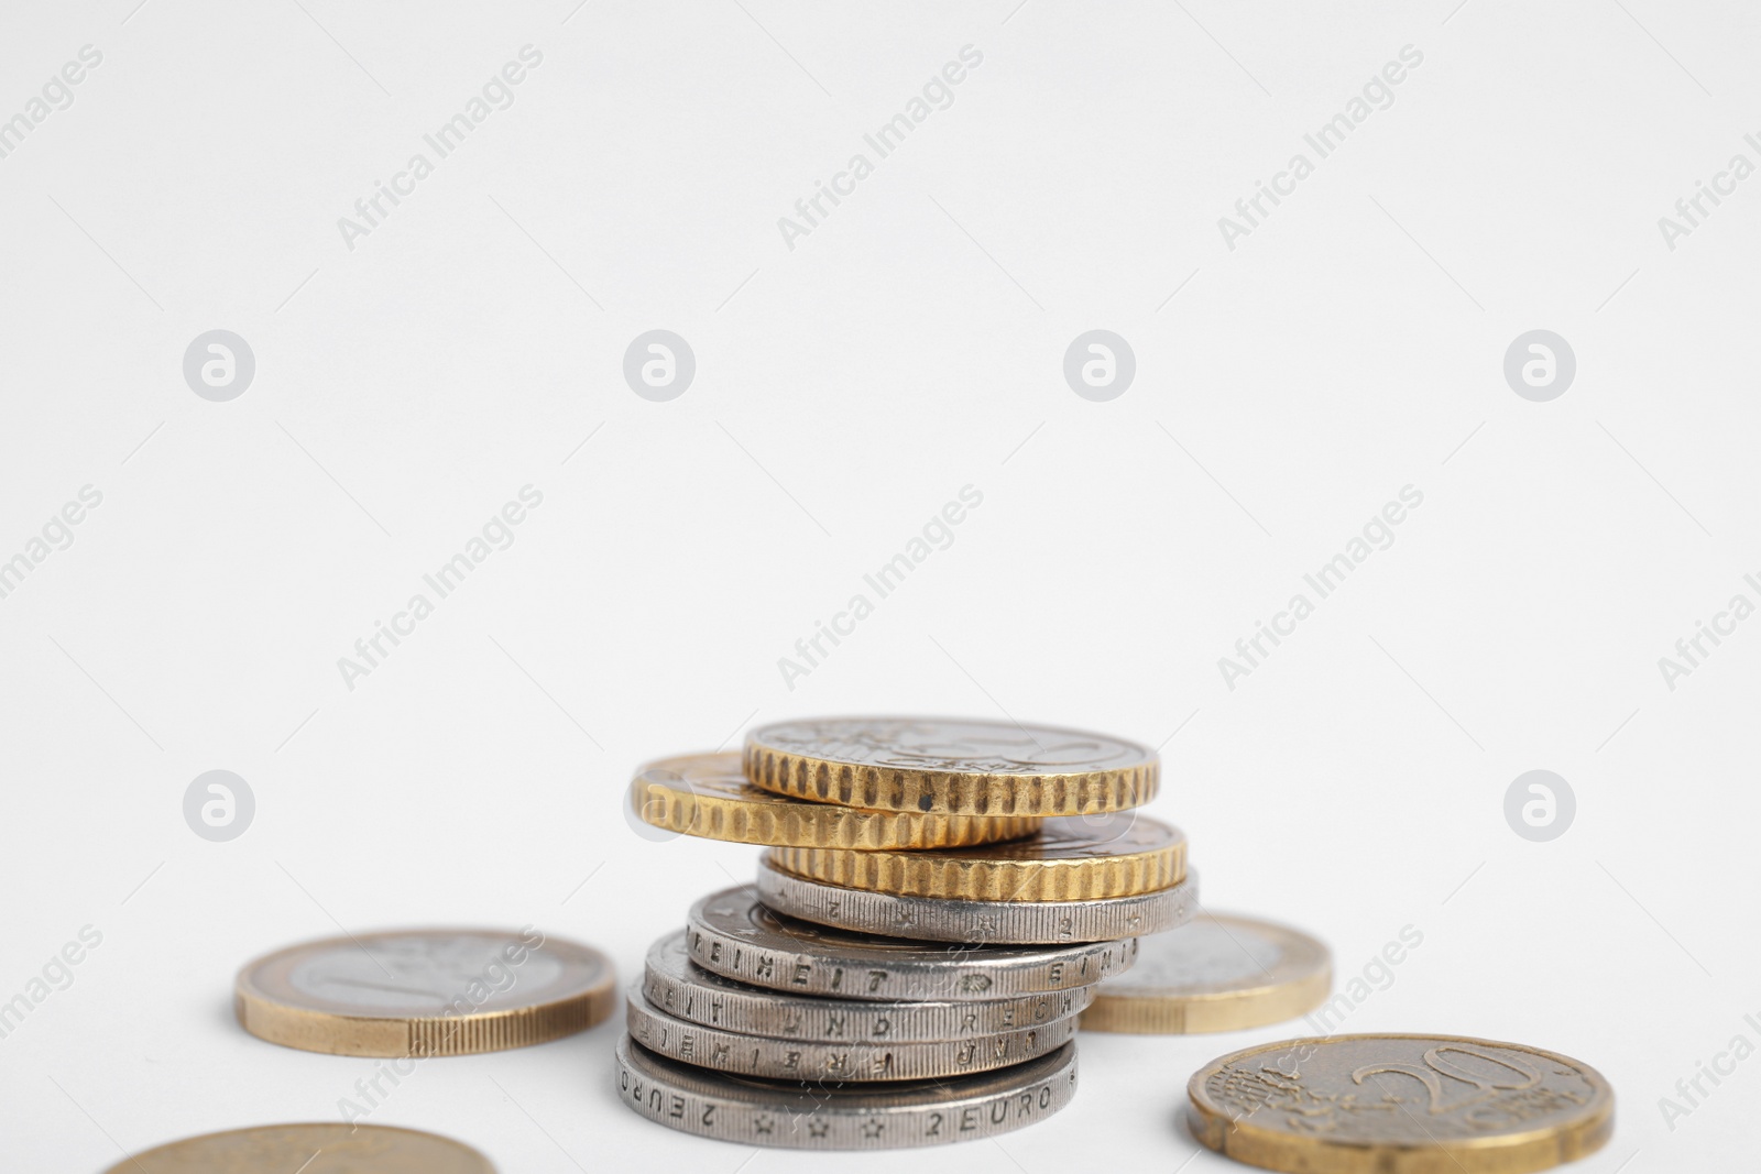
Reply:
[[1044, 1056], [1076, 1035], [1076, 1017], [969, 1040], [812, 1044], [740, 1035], [676, 1019], [630, 989], [625, 1010], [630, 1038], [680, 1063], [763, 1075], [773, 1081], [928, 1081], [990, 1072]]

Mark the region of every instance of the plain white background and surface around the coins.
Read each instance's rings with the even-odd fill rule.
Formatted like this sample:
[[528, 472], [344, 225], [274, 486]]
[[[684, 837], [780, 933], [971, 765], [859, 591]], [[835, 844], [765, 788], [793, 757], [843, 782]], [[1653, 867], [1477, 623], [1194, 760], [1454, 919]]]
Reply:
[[[1164, 743], [1153, 811], [1217, 908], [1319, 933], [1342, 982], [1425, 935], [1345, 1030], [1599, 1067], [1585, 1170], [1750, 1153], [1761, 1060], [1673, 1130], [1657, 1102], [1761, 1044], [1761, 621], [1673, 692], [1657, 658], [1757, 597], [1761, 180], [1675, 250], [1657, 218], [1761, 162], [1752, 11], [134, 5], [0, 21], [0, 116], [104, 55], [0, 158], [0, 558], [104, 495], [0, 600], [0, 1000], [104, 935], [0, 1040], [7, 1167], [335, 1119], [373, 1061], [259, 1042], [229, 991], [338, 924], [535, 922], [636, 975], [754, 850], [632, 834], [632, 767], [873, 711]], [[525, 44], [514, 104], [350, 250], [338, 216]], [[953, 106], [787, 248], [967, 44]], [[1229, 250], [1217, 218], [1407, 44], [1395, 104]], [[231, 403], [181, 373], [215, 327], [257, 359]], [[671, 403], [622, 378], [653, 327], [697, 356]], [[1111, 403], [1062, 377], [1094, 327], [1138, 359]], [[1550, 403], [1502, 375], [1537, 327], [1578, 359]], [[349, 690], [338, 657], [525, 484], [514, 546]], [[953, 546], [787, 688], [967, 484]], [[1396, 542], [1227, 688], [1407, 484]], [[1536, 767], [1578, 799], [1550, 843], [1502, 811]], [[231, 843], [183, 822], [208, 769], [255, 792]], [[1293, 1030], [1085, 1037], [1069, 1111], [910, 1162], [1180, 1169], [1187, 1075]], [[505, 1172], [822, 1165], [627, 1112], [618, 1031], [426, 1065], [372, 1119]]]

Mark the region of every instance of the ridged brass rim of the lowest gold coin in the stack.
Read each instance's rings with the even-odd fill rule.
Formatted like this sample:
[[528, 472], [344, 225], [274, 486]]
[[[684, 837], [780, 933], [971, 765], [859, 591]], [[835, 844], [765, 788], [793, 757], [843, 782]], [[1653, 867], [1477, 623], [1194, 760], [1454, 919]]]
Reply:
[[1132, 825], [1138, 824], [1166, 833], [1164, 843], [1118, 855], [1048, 861], [986, 859], [986, 852], [1014, 843], [923, 852], [771, 848], [766, 859], [784, 873], [844, 889], [958, 901], [1094, 901], [1178, 885], [1187, 878], [1185, 833], [1148, 815], [1136, 817]]

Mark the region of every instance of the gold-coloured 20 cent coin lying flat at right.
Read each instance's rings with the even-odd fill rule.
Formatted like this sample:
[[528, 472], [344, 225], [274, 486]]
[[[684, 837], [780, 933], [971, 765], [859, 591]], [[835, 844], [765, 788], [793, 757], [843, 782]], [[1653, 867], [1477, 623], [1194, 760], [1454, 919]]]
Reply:
[[1192, 1135], [1268, 1170], [1523, 1174], [1613, 1132], [1595, 1068], [1458, 1035], [1333, 1035], [1259, 1044], [1187, 1084]]

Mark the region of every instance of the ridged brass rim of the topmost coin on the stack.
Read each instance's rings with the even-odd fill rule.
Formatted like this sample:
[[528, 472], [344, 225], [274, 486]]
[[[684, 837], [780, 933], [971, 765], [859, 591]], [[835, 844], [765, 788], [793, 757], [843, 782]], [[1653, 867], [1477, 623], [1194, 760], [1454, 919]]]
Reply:
[[[939, 815], [1099, 815], [1138, 808], [1155, 797], [1160, 757], [1143, 743], [1113, 734], [1062, 725], [1028, 723], [1050, 734], [1106, 737], [1143, 752], [1138, 762], [1102, 771], [990, 773], [940, 771], [847, 762], [805, 752], [768, 746], [766, 730], [777, 725], [852, 722], [856, 718], [796, 718], [750, 730], [743, 760], [754, 787], [814, 803], [875, 811], [932, 811]], [[873, 716], [865, 722], [969, 722], [1009, 729], [986, 718]], [[1016, 727], [1020, 729], [1020, 727]]]

